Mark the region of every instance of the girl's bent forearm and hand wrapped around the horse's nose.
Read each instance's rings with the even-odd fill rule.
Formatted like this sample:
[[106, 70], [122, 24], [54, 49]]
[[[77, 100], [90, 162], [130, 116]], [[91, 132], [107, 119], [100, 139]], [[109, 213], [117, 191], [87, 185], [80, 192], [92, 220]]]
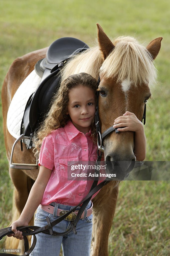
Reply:
[[[125, 128], [119, 128], [126, 126]], [[143, 161], [146, 157], [146, 137], [142, 122], [134, 113], [126, 111], [123, 116], [119, 116], [114, 120], [114, 128], [118, 128], [119, 132], [132, 131], [135, 132], [134, 154], [137, 161]]]

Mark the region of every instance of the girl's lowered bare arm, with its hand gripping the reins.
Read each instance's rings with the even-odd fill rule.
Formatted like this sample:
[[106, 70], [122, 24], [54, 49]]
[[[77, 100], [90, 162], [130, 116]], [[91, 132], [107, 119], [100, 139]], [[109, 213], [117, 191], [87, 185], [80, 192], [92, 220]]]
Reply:
[[[41, 203], [44, 190], [47, 186], [51, 172], [52, 171], [50, 169], [44, 167], [43, 165], [40, 165], [38, 177], [31, 188], [25, 207], [21, 212], [19, 219], [14, 221], [11, 225], [12, 231], [14, 232], [14, 237], [18, 239], [23, 239], [22, 232], [19, 230], [17, 231], [16, 227], [28, 226], [28, 223], [34, 215], [34, 212]], [[12, 236], [12, 234], [10, 234], [9, 236]]]

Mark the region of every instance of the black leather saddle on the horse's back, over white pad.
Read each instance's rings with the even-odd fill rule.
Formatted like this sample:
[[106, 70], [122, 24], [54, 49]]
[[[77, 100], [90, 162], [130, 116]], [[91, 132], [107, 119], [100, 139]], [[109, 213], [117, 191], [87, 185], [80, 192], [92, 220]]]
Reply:
[[[49, 46], [46, 58], [39, 60], [35, 65], [35, 71], [42, 80], [27, 102], [21, 134], [33, 135], [35, 128], [48, 112], [50, 101], [60, 86], [61, 67], [75, 54], [88, 48], [89, 46], [83, 41], [72, 37], [60, 38]], [[31, 147], [30, 143], [28, 147]]]

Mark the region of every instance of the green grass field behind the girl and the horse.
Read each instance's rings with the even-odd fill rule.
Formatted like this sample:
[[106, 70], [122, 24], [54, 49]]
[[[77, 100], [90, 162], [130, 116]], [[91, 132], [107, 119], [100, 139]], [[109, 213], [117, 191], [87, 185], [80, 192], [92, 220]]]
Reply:
[[[0, 0], [0, 87], [12, 61], [49, 46], [63, 36], [92, 46], [98, 22], [110, 37], [132, 35], [147, 45], [163, 37], [156, 58], [158, 84], [147, 107], [145, 133], [148, 161], [170, 156], [170, 2], [168, 0]], [[0, 105], [1, 108], [1, 105]], [[0, 109], [2, 113], [2, 109]], [[8, 175], [0, 114], [0, 228], [11, 219], [12, 184]], [[10, 187], [10, 188], [9, 188]], [[170, 255], [169, 182], [122, 182], [109, 255]], [[4, 239], [0, 241], [4, 247]], [[10, 249], [10, 248], [9, 248]]]

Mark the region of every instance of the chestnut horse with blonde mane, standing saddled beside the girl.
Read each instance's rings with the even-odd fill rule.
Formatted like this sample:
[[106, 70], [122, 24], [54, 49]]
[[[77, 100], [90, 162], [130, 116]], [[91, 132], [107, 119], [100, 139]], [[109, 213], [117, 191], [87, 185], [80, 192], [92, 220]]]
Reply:
[[[149, 86], [155, 81], [156, 70], [153, 60], [159, 53], [162, 38], [152, 40], [145, 48], [132, 37], [119, 37], [113, 42], [104, 33], [99, 24], [99, 46], [88, 49], [72, 58], [62, 70], [62, 79], [70, 74], [86, 72], [98, 79], [100, 76], [99, 115], [101, 132], [112, 126], [115, 118], [125, 111], [135, 113], [142, 119], [144, 105], [151, 96]], [[3, 129], [8, 161], [15, 141], [6, 126], [7, 112], [16, 90], [22, 81], [34, 69], [35, 63], [46, 56], [47, 48], [33, 51], [17, 58], [9, 68], [2, 88]], [[134, 133], [115, 132], [104, 139], [104, 158], [109, 161], [126, 161], [124, 178], [129, 169], [129, 162], [134, 161]], [[32, 150], [20, 150], [16, 146], [13, 159], [22, 163], [33, 159]], [[134, 165], [133, 165], [134, 166]], [[112, 166], [114, 169], [114, 165]], [[128, 171], [127, 171], [128, 170]], [[12, 221], [16, 220], [27, 201], [32, 180], [38, 170], [9, 169], [14, 184]], [[111, 181], [94, 198], [93, 239], [91, 255], [108, 255], [108, 237], [115, 212], [119, 182]], [[33, 219], [31, 220], [30, 225]], [[21, 242], [21, 241], [20, 241]], [[7, 248], [21, 248], [15, 238], [7, 239]]]

